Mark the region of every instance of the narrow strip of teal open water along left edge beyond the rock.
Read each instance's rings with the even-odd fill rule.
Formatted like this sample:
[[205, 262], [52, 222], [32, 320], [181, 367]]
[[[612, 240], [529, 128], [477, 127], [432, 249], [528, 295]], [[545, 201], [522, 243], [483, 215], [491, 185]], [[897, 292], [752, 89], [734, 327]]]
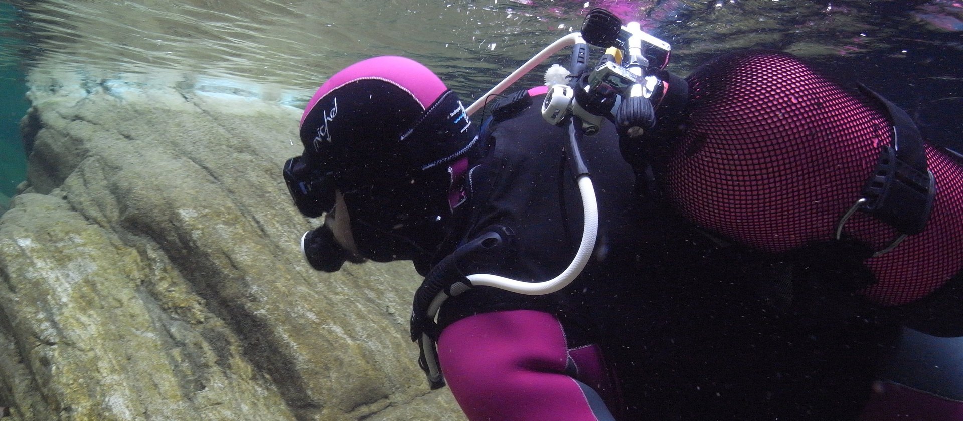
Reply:
[[[0, 27], [10, 28], [13, 6], [0, 3]], [[16, 186], [25, 179], [27, 155], [20, 139], [19, 122], [30, 103], [21, 63], [15, 52], [21, 43], [8, 32], [0, 32], [0, 210], [7, 206]]]

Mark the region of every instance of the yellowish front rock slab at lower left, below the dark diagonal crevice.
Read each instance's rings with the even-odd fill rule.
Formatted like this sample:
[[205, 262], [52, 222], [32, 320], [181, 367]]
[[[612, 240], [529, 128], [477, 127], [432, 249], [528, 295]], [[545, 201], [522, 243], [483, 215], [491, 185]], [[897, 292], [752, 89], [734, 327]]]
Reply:
[[24, 194], [0, 225], [0, 262], [19, 362], [4, 378], [23, 418], [294, 419], [149, 243], [125, 244], [59, 197]]

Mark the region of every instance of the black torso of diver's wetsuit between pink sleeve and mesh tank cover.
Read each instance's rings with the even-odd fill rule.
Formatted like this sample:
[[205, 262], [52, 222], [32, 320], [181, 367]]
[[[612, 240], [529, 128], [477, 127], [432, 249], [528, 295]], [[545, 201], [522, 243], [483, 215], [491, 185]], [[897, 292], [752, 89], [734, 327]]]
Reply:
[[[499, 123], [468, 173], [457, 244], [508, 227], [512, 250], [468, 261], [468, 273], [543, 281], [578, 248], [583, 210], [563, 129], [536, 106]], [[895, 329], [868, 308], [811, 322], [776, 309], [745, 260], [636, 186], [611, 124], [582, 153], [598, 193], [596, 259], [568, 287], [528, 296], [476, 287], [442, 308], [442, 328], [473, 314], [540, 310], [564, 326], [569, 348], [597, 343], [622, 384], [625, 419], [831, 419], [865, 404], [873, 353]], [[744, 259], [744, 257], [739, 257]], [[888, 348], [887, 348], [888, 349]], [[825, 418], [829, 417], [829, 418]]]

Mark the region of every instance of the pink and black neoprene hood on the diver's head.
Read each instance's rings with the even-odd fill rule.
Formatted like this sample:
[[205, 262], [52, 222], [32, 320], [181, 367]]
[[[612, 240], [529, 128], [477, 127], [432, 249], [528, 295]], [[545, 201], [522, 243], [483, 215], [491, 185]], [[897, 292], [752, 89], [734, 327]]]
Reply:
[[390, 56], [328, 79], [300, 138], [296, 171], [342, 192], [360, 253], [378, 261], [430, 255], [450, 214], [450, 167], [463, 166], [478, 140], [454, 91], [424, 65]]

